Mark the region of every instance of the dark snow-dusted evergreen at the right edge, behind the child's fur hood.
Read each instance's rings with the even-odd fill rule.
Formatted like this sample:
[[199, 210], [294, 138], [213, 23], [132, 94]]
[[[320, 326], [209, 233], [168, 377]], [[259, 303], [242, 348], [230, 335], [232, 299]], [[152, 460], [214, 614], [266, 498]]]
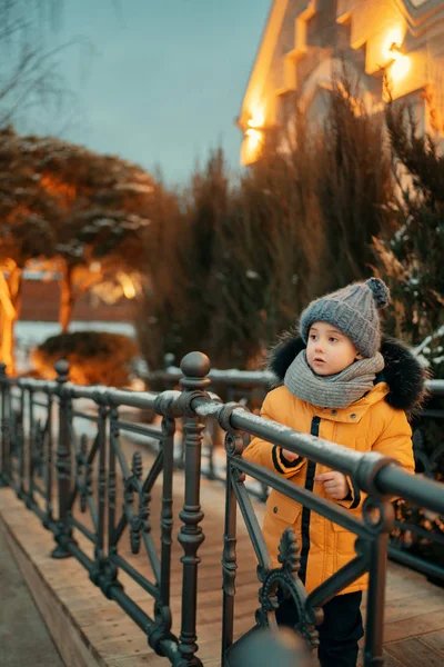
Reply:
[[387, 328], [416, 347], [435, 377], [444, 377], [444, 157], [405, 104], [390, 102], [386, 122], [398, 183], [391, 211], [397, 228], [374, 247], [392, 291]]

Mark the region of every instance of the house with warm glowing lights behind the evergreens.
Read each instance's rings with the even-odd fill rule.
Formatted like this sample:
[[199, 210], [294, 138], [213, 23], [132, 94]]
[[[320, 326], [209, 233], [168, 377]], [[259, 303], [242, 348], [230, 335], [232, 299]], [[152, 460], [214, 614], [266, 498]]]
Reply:
[[322, 115], [343, 61], [373, 110], [382, 108], [385, 73], [421, 129], [443, 133], [444, 1], [273, 0], [238, 118], [243, 165], [285, 126], [296, 99], [310, 117]]

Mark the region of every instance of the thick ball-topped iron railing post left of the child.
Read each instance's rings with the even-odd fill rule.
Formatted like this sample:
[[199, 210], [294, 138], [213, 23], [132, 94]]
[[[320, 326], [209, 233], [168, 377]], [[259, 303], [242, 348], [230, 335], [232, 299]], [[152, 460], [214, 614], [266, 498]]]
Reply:
[[186, 665], [202, 665], [195, 656], [196, 644], [196, 603], [198, 603], [198, 549], [204, 540], [199, 525], [203, 519], [200, 506], [202, 431], [205, 428], [200, 418], [193, 412], [191, 401], [198, 396], [204, 396], [204, 389], [210, 385], [205, 377], [210, 371], [210, 359], [201, 352], [190, 352], [181, 362], [184, 377], [181, 379], [183, 394], [180, 405], [186, 416], [184, 426], [185, 449], [185, 500], [180, 518], [183, 526], [180, 529], [179, 541], [184, 556], [182, 584], [182, 626], [180, 634], [180, 651]]

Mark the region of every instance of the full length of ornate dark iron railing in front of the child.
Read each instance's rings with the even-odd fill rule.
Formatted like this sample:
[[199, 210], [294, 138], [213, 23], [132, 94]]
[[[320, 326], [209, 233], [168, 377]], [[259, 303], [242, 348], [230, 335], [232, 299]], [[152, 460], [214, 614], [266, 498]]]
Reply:
[[[34, 511], [54, 537], [54, 558], [74, 557], [89, 573], [92, 583], [114, 600], [147, 636], [149, 645], [165, 656], [171, 665], [201, 665], [196, 637], [199, 548], [204, 539], [200, 505], [201, 454], [204, 422], [218, 422], [225, 435], [226, 500], [223, 535], [223, 621], [221, 628], [222, 665], [229, 664], [234, 637], [236, 577], [236, 508], [239, 507], [258, 560], [260, 609], [256, 625], [275, 627], [278, 589], [291, 595], [299, 610], [296, 631], [304, 646], [317, 645], [316, 625], [322, 606], [352, 581], [369, 573], [366, 638], [364, 665], [383, 664], [383, 618], [389, 536], [394, 527], [390, 496], [400, 496], [431, 511], [444, 514], [444, 487], [420, 476], [404, 472], [394, 461], [376, 452], [360, 454], [320, 438], [301, 435], [287, 427], [250, 414], [244, 406], [222, 402], [208, 392], [209, 359], [191, 352], [181, 364], [181, 391], [158, 395], [104, 387], [78, 387], [69, 382], [64, 361], [56, 366], [56, 381], [13, 379], [0, 367], [1, 387], [1, 484], [12, 487], [27, 507]], [[79, 409], [82, 400], [92, 401], [97, 414]], [[162, 417], [161, 430], [132, 424], [121, 418], [124, 407], [154, 410]], [[37, 417], [43, 415], [42, 419]], [[170, 608], [173, 437], [176, 422], [183, 419], [184, 499], [179, 541], [181, 563], [181, 631], [172, 631]], [[89, 434], [79, 434], [73, 424], [83, 420]], [[91, 438], [91, 431], [93, 437]], [[121, 446], [124, 434], [137, 432], [159, 441], [155, 460], [143, 475], [140, 455], [131, 464]], [[310, 491], [242, 458], [243, 434], [290, 449], [317, 464], [334, 468], [353, 478], [367, 494], [362, 520], [346, 509], [314, 496]], [[356, 556], [341, 570], [310, 594], [297, 576], [299, 545], [291, 529], [282, 535], [281, 567], [272, 568], [261, 529], [245, 487], [245, 476], [278, 489], [290, 498], [339, 524], [356, 535]], [[53, 477], [57, 476], [57, 492]], [[122, 479], [122, 510], [118, 510], [117, 479]], [[161, 547], [158, 554], [151, 534], [150, 499], [158, 479], [162, 479]], [[93, 489], [97, 490], [94, 500]], [[74, 502], [89, 515], [89, 524], [72, 511]], [[119, 505], [120, 506], [120, 505]], [[376, 516], [376, 519], [375, 519]], [[77, 539], [82, 534], [93, 548], [83, 550]], [[148, 579], [119, 552], [128, 531], [131, 549], [138, 554], [143, 545], [152, 579]], [[151, 618], [131, 599], [119, 583], [119, 573], [131, 577], [155, 601]], [[252, 625], [254, 619], [252, 619]]]

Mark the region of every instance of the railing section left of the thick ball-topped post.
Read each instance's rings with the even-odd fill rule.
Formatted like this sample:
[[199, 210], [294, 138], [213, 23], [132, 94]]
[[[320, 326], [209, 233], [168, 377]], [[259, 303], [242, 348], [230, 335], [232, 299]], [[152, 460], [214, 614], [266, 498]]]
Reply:
[[[12, 487], [27, 507], [40, 517], [43, 526], [52, 531], [57, 544], [53, 558], [77, 558], [92, 583], [108, 598], [117, 601], [147, 634], [150, 645], [165, 655], [172, 665], [183, 666], [188, 664], [185, 656], [193, 643], [192, 634], [184, 618], [181, 641], [174, 637], [170, 611], [172, 392], [153, 396], [104, 387], [77, 387], [68, 382], [67, 362], [59, 361], [56, 369], [56, 381], [26, 378], [16, 381], [7, 378], [4, 365], [0, 366], [1, 482]], [[97, 414], [79, 409], [81, 401], [95, 406]], [[121, 406], [158, 409], [163, 415], [161, 431], [123, 421], [119, 415]], [[44, 410], [43, 424], [36, 419], [38, 408]], [[88, 428], [75, 429], [74, 422], [87, 424]], [[148, 474], [143, 471], [139, 452], [132, 456], [131, 464], [128, 462], [120, 441], [121, 435], [127, 431], [158, 439], [159, 454]], [[52, 484], [54, 467], [57, 488]], [[150, 494], [161, 475], [159, 556], [151, 535]], [[43, 486], [40, 480], [44, 480]], [[118, 480], [122, 495], [121, 512], [118, 512], [117, 504]], [[74, 511], [75, 504], [78, 511]], [[189, 517], [184, 517], [184, 526], [188, 521]], [[125, 529], [132, 554], [138, 554], [143, 545], [152, 578], [137, 570], [119, 552]], [[82, 546], [79, 535], [84, 538]], [[182, 538], [184, 542], [188, 539], [188, 535]], [[154, 599], [154, 618], [150, 618], [124, 593], [118, 580], [119, 573], [125, 573]]]

